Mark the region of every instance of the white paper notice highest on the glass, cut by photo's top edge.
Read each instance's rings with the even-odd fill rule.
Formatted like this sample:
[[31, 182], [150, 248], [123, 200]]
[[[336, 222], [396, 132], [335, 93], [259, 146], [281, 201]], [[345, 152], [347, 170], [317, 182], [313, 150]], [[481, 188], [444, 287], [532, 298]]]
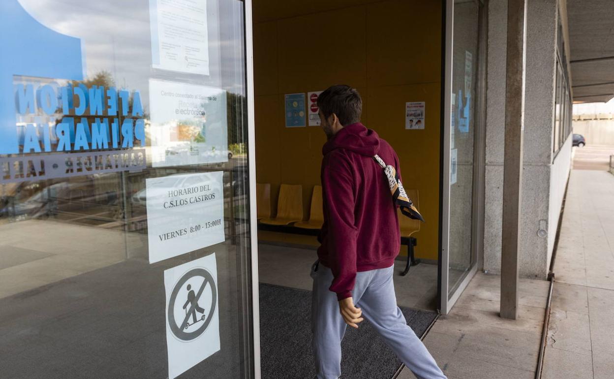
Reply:
[[209, 75], [206, 0], [149, 0], [153, 68]]

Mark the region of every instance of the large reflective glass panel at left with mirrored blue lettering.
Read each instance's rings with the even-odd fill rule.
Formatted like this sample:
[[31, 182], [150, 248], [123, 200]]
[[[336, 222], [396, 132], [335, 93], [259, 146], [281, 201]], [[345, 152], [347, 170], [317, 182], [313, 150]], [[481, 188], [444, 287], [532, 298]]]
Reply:
[[0, 4], [0, 377], [254, 377], [244, 2]]

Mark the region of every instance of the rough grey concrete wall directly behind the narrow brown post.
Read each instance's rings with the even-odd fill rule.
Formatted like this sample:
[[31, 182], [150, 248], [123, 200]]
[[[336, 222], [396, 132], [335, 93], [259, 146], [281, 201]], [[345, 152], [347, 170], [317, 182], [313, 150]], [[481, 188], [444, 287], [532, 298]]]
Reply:
[[[551, 208], [554, 92], [556, 77], [556, 0], [531, 1], [527, 8], [526, 98], [521, 208], [520, 275], [546, 278], [551, 254], [550, 238], [556, 233]], [[500, 272], [503, 160], [505, 131], [505, 45], [507, 1], [489, 2], [488, 92], [486, 111], [486, 182], [484, 270]], [[566, 154], [559, 154], [562, 159]], [[567, 155], [569, 157], [569, 155]], [[558, 172], [558, 171], [556, 171]], [[558, 212], [558, 211], [557, 211]], [[557, 213], [558, 217], [558, 213]], [[548, 238], [538, 236], [545, 229]]]

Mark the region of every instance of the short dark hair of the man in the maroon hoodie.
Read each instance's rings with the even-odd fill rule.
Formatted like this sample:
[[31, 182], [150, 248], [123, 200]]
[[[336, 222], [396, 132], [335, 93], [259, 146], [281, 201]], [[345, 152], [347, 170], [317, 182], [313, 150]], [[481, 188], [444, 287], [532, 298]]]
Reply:
[[317, 106], [324, 114], [330, 117], [337, 115], [343, 127], [360, 122], [362, 114], [362, 98], [360, 93], [349, 85], [333, 85], [317, 96]]

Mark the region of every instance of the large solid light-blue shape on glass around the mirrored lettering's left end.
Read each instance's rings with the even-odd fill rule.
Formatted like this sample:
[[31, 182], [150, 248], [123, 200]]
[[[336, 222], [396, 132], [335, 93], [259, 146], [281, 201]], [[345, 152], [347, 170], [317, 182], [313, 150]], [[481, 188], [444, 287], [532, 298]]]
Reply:
[[[10, 36], [2, 39], [2, 56], [18, 57], [0, 59], [0, 98], [14, 98], [13, 75], [16, 73], [83, 80], [80, 39], [65, 36], [41, 25], [17, 0], [0, 1], [0, 36]], [[24, 49], [25, 45], [27, 49]], [[27, 87], [26, 85], [26, 93]], [[31, 96], [27, 98], [28, 106], [33, 106], [34, 92], [27, 95]], [[22, 109], [20, 105], [20, 113], [25, 109], [25, 106]], [[15, 123], [15, 104], [12, 101], [0, 101], [0, 154], [19, 153]]]

